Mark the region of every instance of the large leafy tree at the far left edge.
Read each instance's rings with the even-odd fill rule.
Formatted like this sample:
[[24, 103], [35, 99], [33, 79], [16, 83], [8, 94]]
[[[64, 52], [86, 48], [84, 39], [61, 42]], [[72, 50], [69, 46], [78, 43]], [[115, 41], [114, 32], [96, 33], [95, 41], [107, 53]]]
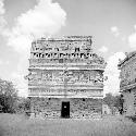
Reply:
[[4, 113], [15, 112], [15, 102], [17, 100], [17, 90], [12, 82], [0, 79], [0, 106]]

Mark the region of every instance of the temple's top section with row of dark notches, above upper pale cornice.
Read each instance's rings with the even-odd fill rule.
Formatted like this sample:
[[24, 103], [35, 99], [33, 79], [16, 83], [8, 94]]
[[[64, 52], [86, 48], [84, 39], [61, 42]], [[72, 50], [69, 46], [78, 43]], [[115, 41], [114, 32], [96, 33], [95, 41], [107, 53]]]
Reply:
[[[74, 37], [73, 37], [74, 38]], [[72, 38], [72, 39], [73, 39]], [[69, 40], [67, 40], [69, 39]], [[47, 63], [83, 63], [87, 65], [104, 65], [104, 60], [91, 49], [91, 38], [84, 37], [75, 40], [62, 38], [61, 40], [38, 40], [32, 44], [30, 66], [42, 66]], [[104, 69], [104, 67], [103, 67]]]

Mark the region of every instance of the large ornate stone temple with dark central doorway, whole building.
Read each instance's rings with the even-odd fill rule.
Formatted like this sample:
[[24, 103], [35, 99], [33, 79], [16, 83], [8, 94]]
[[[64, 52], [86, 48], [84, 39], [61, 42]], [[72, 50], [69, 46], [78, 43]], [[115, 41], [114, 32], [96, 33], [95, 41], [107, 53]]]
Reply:
[[27, 75], [32, 113], [54, 119], [101, 114], [106, 62], [91, 44], [91, 36], [32, 42]]

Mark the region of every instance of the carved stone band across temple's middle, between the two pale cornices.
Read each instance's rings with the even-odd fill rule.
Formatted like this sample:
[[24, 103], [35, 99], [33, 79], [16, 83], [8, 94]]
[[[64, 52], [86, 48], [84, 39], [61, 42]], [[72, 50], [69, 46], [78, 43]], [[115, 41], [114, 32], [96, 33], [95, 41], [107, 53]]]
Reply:
[[27, 76], [29, 85], [55, 84], [90, 84], [102, 85], [103, 76], [100, 71], [33, 71]]

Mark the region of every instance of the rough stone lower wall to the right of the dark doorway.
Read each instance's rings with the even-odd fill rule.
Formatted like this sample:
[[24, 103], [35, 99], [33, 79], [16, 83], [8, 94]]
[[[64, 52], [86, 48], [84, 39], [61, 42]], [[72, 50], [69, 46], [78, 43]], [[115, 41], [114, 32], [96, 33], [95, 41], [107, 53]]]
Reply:
[[71, 99], [71, 118], [94, 118], [100, 115], [102, 110], [102, 101], [91, 98], [74, 98]]

